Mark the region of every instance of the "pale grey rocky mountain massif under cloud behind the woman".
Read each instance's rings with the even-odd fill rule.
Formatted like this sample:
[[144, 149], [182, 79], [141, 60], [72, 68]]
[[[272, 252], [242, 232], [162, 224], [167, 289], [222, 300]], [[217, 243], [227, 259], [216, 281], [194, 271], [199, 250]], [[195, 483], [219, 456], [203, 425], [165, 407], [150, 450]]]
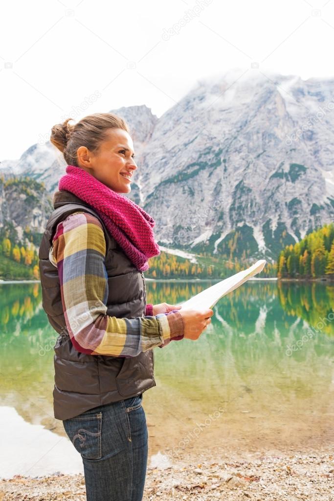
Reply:
[[[197, 82], [159, 118], [110, 110], [129, 124], [138, 165], [124, 196], [155, 219], [159, 244], [274, 261], [334, 220], [334, 80], [254, 71]], [[51, 194], [65, 162], [47, 142], [4, 165]]]

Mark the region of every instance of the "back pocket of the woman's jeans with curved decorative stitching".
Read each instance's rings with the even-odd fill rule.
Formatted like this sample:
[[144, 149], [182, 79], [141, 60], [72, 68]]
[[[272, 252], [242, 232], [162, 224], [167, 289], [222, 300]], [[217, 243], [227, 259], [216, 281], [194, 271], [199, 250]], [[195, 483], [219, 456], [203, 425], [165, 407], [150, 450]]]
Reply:
[[83, 413], [65, 419], [62, 424], [68, 438], [81, 457], [85, 459], [100, 459], [102, 457], [102, 412], [87, 415]]

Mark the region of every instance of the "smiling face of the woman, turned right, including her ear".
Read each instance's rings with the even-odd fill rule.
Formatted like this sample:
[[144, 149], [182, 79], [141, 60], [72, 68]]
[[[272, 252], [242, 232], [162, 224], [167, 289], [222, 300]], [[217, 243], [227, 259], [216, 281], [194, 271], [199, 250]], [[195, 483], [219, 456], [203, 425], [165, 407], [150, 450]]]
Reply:
[[77, 149], [78, 166], [117, 193], [131, 191], [132, 178], [124, 175], [131, 176], [137, 169], [133, 156], [132, 139], [123, 129], [109, 129], [97, 153], [85, 146]]

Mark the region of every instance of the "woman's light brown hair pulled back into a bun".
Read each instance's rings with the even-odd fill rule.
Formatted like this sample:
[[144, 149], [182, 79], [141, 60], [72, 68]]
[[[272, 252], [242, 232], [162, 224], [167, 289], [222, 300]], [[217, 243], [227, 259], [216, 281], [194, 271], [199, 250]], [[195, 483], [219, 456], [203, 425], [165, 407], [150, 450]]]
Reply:
[[107, 138], [108, 129], [123, 129], [129, 132], [125, 120], [113, 113], [93, 113], [81, 118], [76, 124], [70, 125], [67, 118], [63, 123], [53, 125], [50, 141], [63, 154], [67, 165], [77, 165], [77, 149], [85, 146], [95, 152]]

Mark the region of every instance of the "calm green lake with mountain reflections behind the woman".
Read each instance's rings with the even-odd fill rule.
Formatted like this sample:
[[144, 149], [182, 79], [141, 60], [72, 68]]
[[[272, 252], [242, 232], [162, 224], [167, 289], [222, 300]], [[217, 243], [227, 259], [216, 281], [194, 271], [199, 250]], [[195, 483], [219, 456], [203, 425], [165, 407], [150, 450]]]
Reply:
[[[147, 281], [147, 302], [180, 304], [213, 283]], [[0, 416], [21, 430], [17, 450], [24, 457], [19, 462], [1, 426], [6, 461], [13, 456], [2, 475], [46, 472], [55, 449], [58, 460], [65, 448], [78, 456], [53, 418], [57, 334], [42, 309], [39, 283], [0, 284], [0, 304]], [[333, 309], [332, 285], [249, 281], [217, 303], [197, 341], [155, 348], [156, 387], [143, 395], [149, 456], [167, 464], [167, 457], [182, 460], [203, 450], [319, 451], [331, 445]], [[35, 451], [32, 467], [31, 444], [43, 433], [49, 446], [43, 454]]]

